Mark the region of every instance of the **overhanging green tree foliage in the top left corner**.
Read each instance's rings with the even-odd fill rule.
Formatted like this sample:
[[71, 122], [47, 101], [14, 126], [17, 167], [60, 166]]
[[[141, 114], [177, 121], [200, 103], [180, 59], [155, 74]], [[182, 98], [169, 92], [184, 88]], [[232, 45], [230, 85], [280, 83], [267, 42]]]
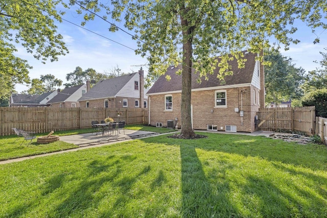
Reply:
[[25, 47], [43, 63], [56, 61], [68, 52], [57, 34], [54, 20], [63, 13], [56, 11], [60, 0], [0, 1], [0, 98], [7, 98], [16, 83], [30, 83], [31, 66], [15, 56], [16, 45]]

